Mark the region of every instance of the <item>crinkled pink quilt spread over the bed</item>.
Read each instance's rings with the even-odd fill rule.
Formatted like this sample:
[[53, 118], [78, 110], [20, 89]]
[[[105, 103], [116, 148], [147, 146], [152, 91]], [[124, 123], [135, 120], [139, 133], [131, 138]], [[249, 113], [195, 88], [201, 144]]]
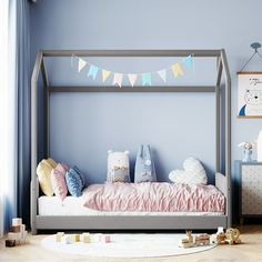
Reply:
[[99, 211], [224, 212], [225, 198], [214, 185], [178, 183], [92, 184], [84, 206]]

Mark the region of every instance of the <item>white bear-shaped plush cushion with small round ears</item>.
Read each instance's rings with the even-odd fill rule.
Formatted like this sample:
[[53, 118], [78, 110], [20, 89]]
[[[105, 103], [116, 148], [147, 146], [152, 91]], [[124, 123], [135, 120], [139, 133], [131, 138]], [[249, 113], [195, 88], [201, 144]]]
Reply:
[[130, 182], [129, 151], [108, 151], [108, 182]]

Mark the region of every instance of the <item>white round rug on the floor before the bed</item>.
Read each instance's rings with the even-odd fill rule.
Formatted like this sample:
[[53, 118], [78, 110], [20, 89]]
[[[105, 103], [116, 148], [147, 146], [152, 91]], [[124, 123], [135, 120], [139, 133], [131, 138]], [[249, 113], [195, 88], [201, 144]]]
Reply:
[[110, 243], [82, 243], [64, 244], [56, 242], [54, 235], [44, 238], [41, 244], [46, 249], [60, 251], [68, 254], [107, 258], [153, 258], [168, 255], [182, 255], [210, 250], [215, 244], [179, 248], [178, 242], [185, 234], [110, 234]]

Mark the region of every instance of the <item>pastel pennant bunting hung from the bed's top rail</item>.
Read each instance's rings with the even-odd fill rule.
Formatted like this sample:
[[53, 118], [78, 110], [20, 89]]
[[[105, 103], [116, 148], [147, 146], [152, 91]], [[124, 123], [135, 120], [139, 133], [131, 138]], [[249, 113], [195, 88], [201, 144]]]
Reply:
[[[100, 67], [97, 67], [87, 60], [79, 58], [72, 54], [72, 58], [78, 59], [78, 72], [81, 72], [84, 68], [88, 68], [88, 77], [92, 78], [93, 80], [97, 79], [98, 75], [101, 75], [102, 82], [112, 81], [113, 85], [122, 87], [123, 78], [128, 78], [129, 83], [131, 87], [138, 81], [142, 81], [142, 85], [152, 85], [152, 80], [154, 79], [153, 75], [158, 75], [164, 83], [168, 81], [168, 71], [171, 70], [172, 75], [174, 78], [179, 78], [184, 75], [188, 70], [194, 71], [194, 59], [193, 56], [190, 54], [183, 58], [180, 62], [172, 63], [170, 67], [160, 69], [158, 71], [152, 72], [142, 72], [142, 73], [121, 73], [121, 72], [113, 72]], [[71, 59], [71, 67], [72, 59]], [[101, 73], [101, 74], [100, 74]], [[111, 77], [112, 74], [112, 77]]]

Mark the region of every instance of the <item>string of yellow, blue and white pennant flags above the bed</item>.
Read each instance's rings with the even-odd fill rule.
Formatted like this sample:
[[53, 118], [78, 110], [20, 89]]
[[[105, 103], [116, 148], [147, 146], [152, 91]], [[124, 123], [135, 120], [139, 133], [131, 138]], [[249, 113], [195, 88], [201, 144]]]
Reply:
[[[192, 69], [193, 74], [194, 74], [194, 59], [193, 59], [194, 54], [190, 54], [185, 58], [182, 59], [182, 63], [189, 68]], [[93, 63], [90, 63], [89, 61], [87, 61], [85, 59], [82, 59], [75, 54], [71, 56], [71, 67], [73, 67], [73, 59], [78, 59], [78, 71], [82, 71], [83, 68], [89, 67], [89, 72], [88, 72], [88, 77], [92, 77], [93, 79], [97, 78], [97, 74], [99, 71], [102, 72], [102, 81], [105, 82], [107, 79], [109, 78], [110, 74], [113, 74], [113, 84], [118, 84], [119, 87], [121, 87], [123, 77], [127, 75], [129, 78], [129, 81], [131, 83], [131, 85], [133, 87], [134, 83], [138, 81], [139, 77], [142, 77], [142, 82], [143, 85], [151, 85], [151, 81], [152, 81], [152, 74], [158, 74], [163, 82], [167, 82], [167, 71], [171, 70], [174, 74], [174, 78], [183, 75], [184, 74], [184, 70], [181, 67], [181, 62], [175, 62], [172, 63], [171, 66], [169, 66], [168, 68], [162, 68], [160, 70], [155, 70], [155, 71], [148, 71], [148, 72], [142, 72], [142, 73], [122, 73], [122, 72], [115, 72], [112, 70], [108, 70], [101, 67], [98, 67]]]

